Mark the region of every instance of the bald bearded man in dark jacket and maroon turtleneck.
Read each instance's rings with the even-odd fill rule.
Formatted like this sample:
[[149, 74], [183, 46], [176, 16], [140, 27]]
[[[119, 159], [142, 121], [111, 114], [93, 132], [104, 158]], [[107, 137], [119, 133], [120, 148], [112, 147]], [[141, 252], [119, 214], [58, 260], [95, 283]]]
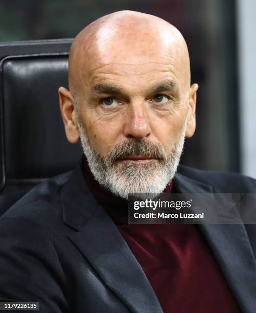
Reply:
[[0, 298], [41, 312], [254, 312], [256, 230], [128, 225], [129, 193], [252, 193], [238, 174], [177, 166], [195, 131], [187, 45], [166, 21], [121, 11], [75, 38], [69, 142], [85, 157], [0, 220]]

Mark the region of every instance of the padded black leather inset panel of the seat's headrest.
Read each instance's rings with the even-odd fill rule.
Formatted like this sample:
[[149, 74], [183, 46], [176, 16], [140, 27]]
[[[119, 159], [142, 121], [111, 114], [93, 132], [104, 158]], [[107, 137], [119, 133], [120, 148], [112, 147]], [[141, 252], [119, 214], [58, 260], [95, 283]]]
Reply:
[[7, 57], [2, 75], [7, 180], [29, 182], [72, 169], [82, 149], [67, 141], [58, 101], [58, 87], [68, 85], [67, 54]]

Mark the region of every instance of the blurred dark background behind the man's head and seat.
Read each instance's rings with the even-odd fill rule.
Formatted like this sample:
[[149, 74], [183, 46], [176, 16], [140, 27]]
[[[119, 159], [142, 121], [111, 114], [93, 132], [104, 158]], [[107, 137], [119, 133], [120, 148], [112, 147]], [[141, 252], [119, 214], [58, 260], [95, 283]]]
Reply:
[[192, 83], [199, 84], [197, 130], [182, 163], [241, 171], [236, 2], [232, 0], [0, 0], [0, 41], [73, 38], [119, 10], [159, 16], [187, 40]]

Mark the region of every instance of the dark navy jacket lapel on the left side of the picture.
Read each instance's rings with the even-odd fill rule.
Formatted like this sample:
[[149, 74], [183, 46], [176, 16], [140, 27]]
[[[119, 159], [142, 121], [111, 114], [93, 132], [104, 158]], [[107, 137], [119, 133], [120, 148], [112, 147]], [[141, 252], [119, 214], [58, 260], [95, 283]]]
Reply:
[[105, 284], [132, 311], [162, 313], [141, 265], [105, 210], [91, 195], [82, 163], [61, 192], [63, 221], [77, 232], [68, 235]]

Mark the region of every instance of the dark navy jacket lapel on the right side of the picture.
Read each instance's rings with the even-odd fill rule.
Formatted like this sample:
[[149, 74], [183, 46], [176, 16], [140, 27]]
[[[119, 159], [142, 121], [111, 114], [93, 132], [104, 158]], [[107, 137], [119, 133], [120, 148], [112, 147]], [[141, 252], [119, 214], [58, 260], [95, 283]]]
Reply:
[[[174, 185], [181, 193], [211, 193], [212, 187], [179, 173]], [[243, 312], [256, 308], [256, 260], [244, 225], [198, 225]]]

